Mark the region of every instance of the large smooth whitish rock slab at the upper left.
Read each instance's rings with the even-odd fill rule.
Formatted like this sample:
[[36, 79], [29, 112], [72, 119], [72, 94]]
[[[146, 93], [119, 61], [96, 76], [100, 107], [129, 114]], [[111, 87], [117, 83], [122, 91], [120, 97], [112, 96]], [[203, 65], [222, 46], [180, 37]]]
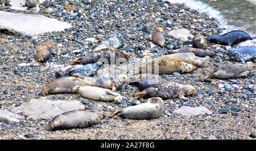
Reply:
[[15, 35], [40, 35], [53, 31], [64, 31], [70, 24], [43, 15], [20, 14], [0, 11], [0, 30], [7, 30]]

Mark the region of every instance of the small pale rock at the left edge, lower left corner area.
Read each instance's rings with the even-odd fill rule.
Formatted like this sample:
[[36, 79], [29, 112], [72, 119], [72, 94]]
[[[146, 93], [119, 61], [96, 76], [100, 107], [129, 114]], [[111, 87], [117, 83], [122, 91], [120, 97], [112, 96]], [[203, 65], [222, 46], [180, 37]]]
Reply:
[[10, 111], [0, 110], [0, 122], [15, 123], [19, 122], [19, 119], [23, 119], [23, 117]]

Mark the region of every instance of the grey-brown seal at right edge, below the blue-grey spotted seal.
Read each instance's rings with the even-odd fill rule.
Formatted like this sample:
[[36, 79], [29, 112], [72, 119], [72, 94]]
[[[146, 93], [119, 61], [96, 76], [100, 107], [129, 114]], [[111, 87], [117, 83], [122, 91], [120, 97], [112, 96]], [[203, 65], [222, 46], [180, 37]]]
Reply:
[[255, 69], [256, 65], [243, 65], [243, 64], [230, 64], [221, 66], [220, 68], [209, 73], [206, 78], [218, 78], [218, 79], [228, 79], [228, 78], [240, 78], [245, 77]]

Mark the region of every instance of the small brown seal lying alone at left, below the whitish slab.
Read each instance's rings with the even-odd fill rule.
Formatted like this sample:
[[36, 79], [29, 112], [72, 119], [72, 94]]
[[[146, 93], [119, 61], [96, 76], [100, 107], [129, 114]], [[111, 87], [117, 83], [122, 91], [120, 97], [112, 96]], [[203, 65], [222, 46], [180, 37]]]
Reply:
[[36, 50], [36, 60], [39, 62], [46, 62], [51, 58], [51, 45], [42, 45]]

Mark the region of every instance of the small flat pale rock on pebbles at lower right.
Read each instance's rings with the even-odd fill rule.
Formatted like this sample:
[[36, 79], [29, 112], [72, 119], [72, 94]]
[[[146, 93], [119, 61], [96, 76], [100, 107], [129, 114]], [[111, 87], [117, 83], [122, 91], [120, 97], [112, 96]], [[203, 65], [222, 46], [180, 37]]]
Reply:
[[199, 107], [189, 107], [189, 106], [182, 106], [173, 111], [174, 114], [181, 114], [181, 115], [205, 115], [205, 114], [212, 114], [207, 108], [203, 106]]

